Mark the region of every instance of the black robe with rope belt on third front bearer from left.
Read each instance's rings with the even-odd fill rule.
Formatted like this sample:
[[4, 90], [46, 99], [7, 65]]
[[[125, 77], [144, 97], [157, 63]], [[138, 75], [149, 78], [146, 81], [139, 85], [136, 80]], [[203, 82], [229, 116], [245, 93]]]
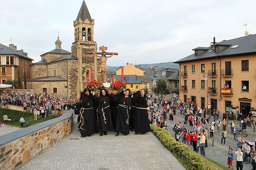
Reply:
[[129, 114], [131, 111], [131, 97], [125, 98], [124, 91], [116, 94], [119, 106], [117, 108], [116, 131], [123, 134], [129, 134]]

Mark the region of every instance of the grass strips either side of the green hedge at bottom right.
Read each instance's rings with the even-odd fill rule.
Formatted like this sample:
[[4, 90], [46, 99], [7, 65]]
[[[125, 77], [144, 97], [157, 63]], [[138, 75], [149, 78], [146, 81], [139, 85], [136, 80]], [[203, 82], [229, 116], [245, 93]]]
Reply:
[[[182, 166], [184, 166], [185, 169], [189, 169], [188, 163], [182, 159], [181, 157], [178, 157], [177, 154], [174, 154], [174, 157], [181, 163]], [[203, 161], [207, 164], [207, 165], [211, 165], [214, 169], [218, 169], [218, 170], [230, 170], [230, 168], [228, 168], [227, 166], [222, 165], [219, 162], [216, 162], [210, 158], [201, 156], [201, 158], [203, 159]], [[233, 163], [234, 164], [234, 163]]]

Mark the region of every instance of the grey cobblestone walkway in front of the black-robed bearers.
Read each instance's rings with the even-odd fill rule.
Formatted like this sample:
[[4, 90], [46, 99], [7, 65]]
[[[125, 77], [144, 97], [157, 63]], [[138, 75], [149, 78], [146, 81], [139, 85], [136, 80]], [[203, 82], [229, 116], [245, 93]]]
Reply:
[[[75, 118], [76, 120], [76, 118]], [[152, 133], [134, 132], [115, 137], [114, 132], [80, 138], [74, 123], [73, 133], [32, 158], [20, 170], [27, 169], [168, 169], [174, 170], [172, 157], [166, 158]], [[79, 140], [69, 140], [79, 138]], [[169, 152], [171, 155], [171, 153]], [[169, 155], [167, 155], [169, 157]], [[172, 162], [172, 163], [171, 163]], [[175, 163], [176, 164], [176, 163]], [[175, 165], [176, 167], [176, 165]], [[175, 168], [177, 169], [177, 167]], [[179, 167], [179, 170], [182, 169]]]

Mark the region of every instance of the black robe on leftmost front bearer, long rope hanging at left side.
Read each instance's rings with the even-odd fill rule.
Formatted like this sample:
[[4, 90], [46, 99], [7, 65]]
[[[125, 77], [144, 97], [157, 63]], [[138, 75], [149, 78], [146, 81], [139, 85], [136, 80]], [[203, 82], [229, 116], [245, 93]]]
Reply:
[[96, 114], [94, 111], [94, 103], [95, 103], [96, 96], [92, 95], [83, 95], [82, 106], [80, 109], [81, 115], [81, 135], [91, 135], [97, 131], [97, 121], [96, 121]]

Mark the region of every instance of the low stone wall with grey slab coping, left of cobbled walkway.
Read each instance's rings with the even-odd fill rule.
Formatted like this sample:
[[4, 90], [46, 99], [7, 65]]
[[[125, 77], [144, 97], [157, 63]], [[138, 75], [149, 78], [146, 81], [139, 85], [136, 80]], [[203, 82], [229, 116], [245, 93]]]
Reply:
[[0, 168], [18, 168], [72, 132], [74, 110], [46, 122], [21, 129], [0, 139]]

